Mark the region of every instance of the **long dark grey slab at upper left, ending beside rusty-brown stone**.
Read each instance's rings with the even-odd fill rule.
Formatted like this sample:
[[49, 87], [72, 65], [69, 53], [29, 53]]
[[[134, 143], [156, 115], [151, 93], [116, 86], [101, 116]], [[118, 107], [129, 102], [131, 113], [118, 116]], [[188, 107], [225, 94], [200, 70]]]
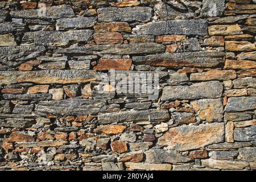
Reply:
[[26, 32], [22, 38], [22, 46], [67, 46], [69, 42], [87, 42], [92, 35], [92, 30]]

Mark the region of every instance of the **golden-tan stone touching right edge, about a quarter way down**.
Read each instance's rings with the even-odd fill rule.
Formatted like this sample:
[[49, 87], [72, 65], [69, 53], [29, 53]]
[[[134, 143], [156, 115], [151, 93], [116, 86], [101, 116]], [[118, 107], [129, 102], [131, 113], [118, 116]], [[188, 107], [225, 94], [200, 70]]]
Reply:
[[225, 42], [226, 51], [255, 51], [255, 44], [247, 41], [226, 41]]

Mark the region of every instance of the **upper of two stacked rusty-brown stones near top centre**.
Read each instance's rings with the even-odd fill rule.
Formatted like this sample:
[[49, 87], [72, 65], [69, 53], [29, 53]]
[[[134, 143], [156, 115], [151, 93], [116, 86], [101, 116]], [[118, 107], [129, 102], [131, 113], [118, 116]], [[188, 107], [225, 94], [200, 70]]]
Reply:
[[131, 32], [126, 22], [98, 23], [94, 26], [95, 32]]

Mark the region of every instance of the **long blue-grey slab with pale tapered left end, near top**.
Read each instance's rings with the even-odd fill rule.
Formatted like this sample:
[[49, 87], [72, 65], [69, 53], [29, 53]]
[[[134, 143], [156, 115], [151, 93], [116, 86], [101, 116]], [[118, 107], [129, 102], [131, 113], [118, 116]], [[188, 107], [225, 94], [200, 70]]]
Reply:
[[208, 35], [207, 20], [168, 20], [159, 22], [150, 22], [133, 28], [136, 34], [148, 35]]

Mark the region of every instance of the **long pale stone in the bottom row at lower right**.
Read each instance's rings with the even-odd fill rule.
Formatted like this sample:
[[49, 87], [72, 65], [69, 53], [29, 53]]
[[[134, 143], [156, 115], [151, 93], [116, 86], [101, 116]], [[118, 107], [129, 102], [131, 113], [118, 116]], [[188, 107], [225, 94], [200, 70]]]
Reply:
[[232, 160], [203, 159], [201, 162], [204, 166], [217, 169], [243, 169], [249, 166], [249, 163], [247, 162], [238, 162]]

